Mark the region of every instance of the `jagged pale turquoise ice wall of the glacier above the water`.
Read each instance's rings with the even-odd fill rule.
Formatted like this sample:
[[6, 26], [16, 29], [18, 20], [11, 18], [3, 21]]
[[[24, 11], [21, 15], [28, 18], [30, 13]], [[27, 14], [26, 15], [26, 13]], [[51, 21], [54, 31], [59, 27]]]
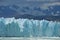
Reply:
[[0, 18], [1, 37], [60, 37], [60, 22]]

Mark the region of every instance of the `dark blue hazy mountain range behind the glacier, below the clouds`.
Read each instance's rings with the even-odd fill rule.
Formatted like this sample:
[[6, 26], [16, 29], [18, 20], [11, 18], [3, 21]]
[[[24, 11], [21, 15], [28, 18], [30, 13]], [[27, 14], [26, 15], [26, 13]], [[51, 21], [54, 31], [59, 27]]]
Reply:
[[42, 9], [39, 6], [0, 6], [0, 17], [60, 20], [59, 8], [60, 5], [48, 6], [48, 9]]

